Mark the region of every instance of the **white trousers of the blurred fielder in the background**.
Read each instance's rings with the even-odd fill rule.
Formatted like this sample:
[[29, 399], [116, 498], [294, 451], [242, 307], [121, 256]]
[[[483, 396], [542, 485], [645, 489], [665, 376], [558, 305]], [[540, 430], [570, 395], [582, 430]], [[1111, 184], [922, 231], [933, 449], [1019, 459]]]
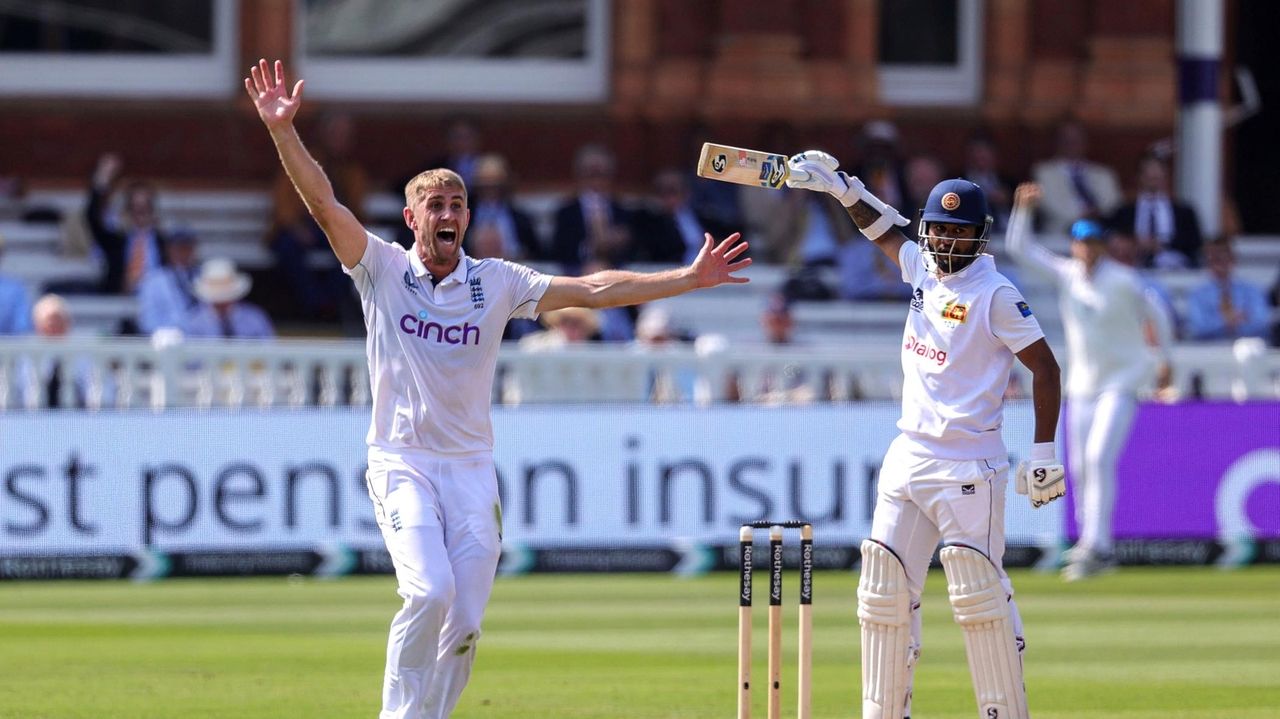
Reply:
[[1075, 546], [1111, 554], [1111, 514], [1116, 504], [1116, 463], [1133, 427], [1138, 400], [1128, 393], [1070, 397], [1066, 452], [1075, 498]]

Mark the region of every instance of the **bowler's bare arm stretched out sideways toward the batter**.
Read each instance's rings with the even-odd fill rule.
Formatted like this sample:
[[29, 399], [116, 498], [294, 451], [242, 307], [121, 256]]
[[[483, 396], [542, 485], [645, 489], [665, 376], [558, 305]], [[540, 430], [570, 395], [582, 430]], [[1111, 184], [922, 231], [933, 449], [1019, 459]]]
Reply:
[[733, 275], [751, 265], [750, 258], [737, 260], [746, 252], [746, 243], [739, 242], [740, 239], [741, 235], [733, 233], [716, 244], [716, 239], [708, 233], [694, 264], [678, 270], [660, 273], [604, 270], [584, 278], [553, 278], [547, 293], [538, 302], [538, 311], [641, 304], [724, 283], [749, 281], [746, 278]]

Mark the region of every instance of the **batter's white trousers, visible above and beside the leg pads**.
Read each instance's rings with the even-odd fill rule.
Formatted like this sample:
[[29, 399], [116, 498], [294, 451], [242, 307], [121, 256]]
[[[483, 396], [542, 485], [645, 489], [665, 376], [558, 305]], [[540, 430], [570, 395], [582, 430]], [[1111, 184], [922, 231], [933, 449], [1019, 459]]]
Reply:
[[[923, 646], [920, 595], [938, 540], [972, 546], [991, 558], [1009, 595], [1019, 652], [1024, 641], [1023, 619], [1012, 599], [1014, 587], [1005, 573], [1004, 560], [1009, 458], [933, 459], [913, 454], [900, 440], [901, 436], [890, 445], [881, 466], [870, 539], [893, 550], [906, 569], [911, 594], [908, 668], [908, 687], [911, 687]], [[906, 715], [910, 710], [908, 699]]]

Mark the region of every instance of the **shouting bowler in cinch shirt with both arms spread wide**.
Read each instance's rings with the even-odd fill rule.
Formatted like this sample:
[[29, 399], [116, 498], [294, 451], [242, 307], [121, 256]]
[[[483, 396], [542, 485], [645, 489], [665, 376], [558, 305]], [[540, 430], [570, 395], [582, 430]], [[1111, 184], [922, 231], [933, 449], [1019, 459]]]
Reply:
[[466, 187], [428, 170], [404, 188], [408, 251], [367, 233], [302, 146], [284, 67], [260, 60], [244, 90], [280, 161], [356, 287], [369, 331], [369, 495], [404, 604], [387, 645], [381, 719], [448, 716], [471, 674], [502, 540], [489, 397], [511, 317], [639, 304], [723, 283], [751, 264], [732, 234], [707, 235], [692, 265], [663, 273], [549, 276], [462, 252]]

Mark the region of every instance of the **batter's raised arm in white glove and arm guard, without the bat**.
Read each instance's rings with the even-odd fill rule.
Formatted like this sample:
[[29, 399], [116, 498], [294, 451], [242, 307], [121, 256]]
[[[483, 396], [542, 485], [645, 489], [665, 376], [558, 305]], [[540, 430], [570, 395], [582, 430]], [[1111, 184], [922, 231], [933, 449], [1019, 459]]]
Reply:
[[826, 192], [838, 200], [863, 235], [899, 264], [899, 251], [908, 242], [899, 228], [909, 224], [901, 212], [872, 194], [858, 178], [836, 171], [840, 161], [826, 152], [801, 152], [792, 156], [787, 166], [791, 170], [787, 187]]

